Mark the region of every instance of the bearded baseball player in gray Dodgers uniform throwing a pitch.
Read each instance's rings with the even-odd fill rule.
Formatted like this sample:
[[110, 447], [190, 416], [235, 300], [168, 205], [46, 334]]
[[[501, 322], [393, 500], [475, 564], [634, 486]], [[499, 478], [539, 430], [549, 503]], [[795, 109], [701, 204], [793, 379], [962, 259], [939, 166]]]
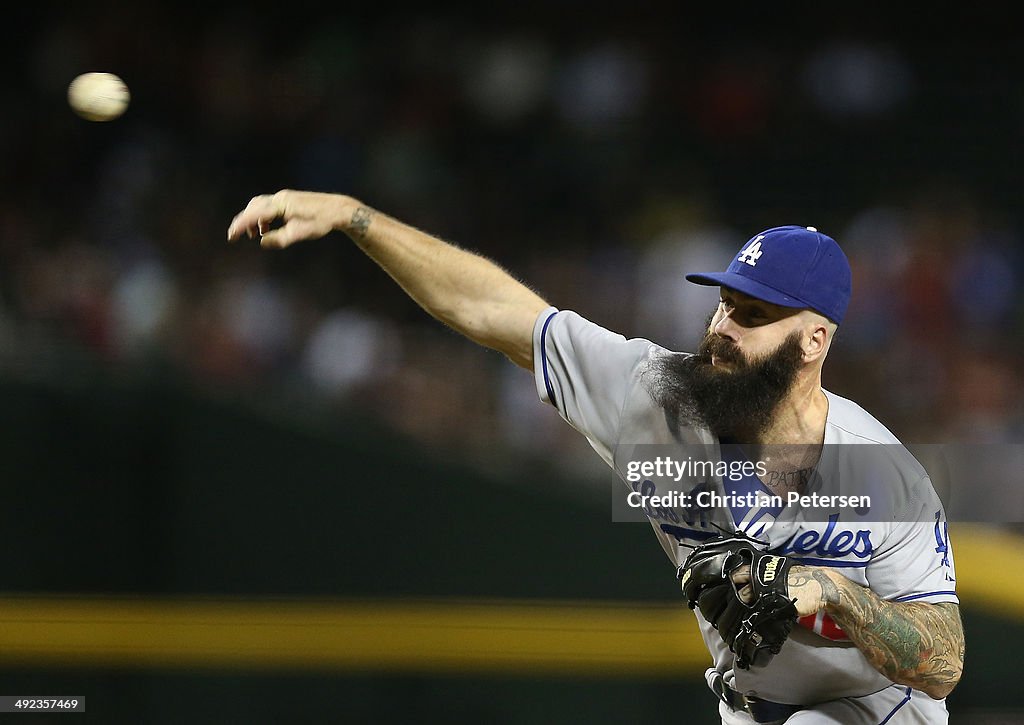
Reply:
[[[766, 229], [726, 271], [688, 274], [721, 300], [696, 352], [677, 353], [557, 309], [350, 197], [258, 196], [227, 238], [284, 248], [333, 230], [434, 317], [532, 371], [541, 399], [640, 499], [694, 608], [723, 723], [947, 722], [964, 632], [945, 514], [898, 439], [821, 387], [851, 294], [831, 238]], [[725, 468], [683, 470], [697, 450]], [[658, 504], [667, 482], [691, 501]], [[839, 496], [856, 493], [867, 509]]]

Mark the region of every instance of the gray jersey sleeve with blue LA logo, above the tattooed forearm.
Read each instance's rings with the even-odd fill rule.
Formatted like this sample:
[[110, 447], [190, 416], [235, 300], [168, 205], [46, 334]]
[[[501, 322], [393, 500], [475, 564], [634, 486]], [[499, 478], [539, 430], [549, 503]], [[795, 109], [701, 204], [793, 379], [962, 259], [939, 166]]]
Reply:
[[891, 601], [958, 604], [945, 511], [930, 480], [923, 481], [921, 491], [915, 511], [894, 523], [883, 550], [868, 564], [868, 586]]

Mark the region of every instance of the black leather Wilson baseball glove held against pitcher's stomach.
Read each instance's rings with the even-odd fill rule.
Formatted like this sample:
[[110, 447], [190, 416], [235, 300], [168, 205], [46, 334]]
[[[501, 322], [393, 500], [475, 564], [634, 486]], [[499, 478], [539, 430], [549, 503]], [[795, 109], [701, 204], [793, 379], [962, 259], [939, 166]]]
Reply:
[[[797, 622], [787, 584], [793, 560], [766, 548], [741, 531], [720, 536], [691, 551], [678, 571], [687, 606], [700, 608], [742, 670], [771, 662]], [[743, 564], [751, 567], [749, 603], [732, 581]]]

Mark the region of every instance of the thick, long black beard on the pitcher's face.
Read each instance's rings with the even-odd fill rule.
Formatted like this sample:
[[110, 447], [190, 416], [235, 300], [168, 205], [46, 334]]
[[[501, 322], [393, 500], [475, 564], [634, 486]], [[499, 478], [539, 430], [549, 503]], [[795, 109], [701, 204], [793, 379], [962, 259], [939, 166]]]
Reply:
[[[756, 442], [793, 389], [803, 359], [800, 342], [801, 334], [794, 332], [771, 352], [749, 360], [731, 340], [709, 333], [694, 354], [654, 360], [649, 390], [670, 423], [705, 427], [736, 442]], [[714, 367], [712, 355], [730, 363], [730, 368]]]

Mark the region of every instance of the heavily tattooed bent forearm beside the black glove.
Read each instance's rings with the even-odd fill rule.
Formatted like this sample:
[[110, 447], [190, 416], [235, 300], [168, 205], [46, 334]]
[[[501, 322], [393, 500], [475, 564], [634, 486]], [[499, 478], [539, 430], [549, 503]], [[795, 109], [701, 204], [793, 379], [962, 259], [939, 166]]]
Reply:
[[824, 572], [815, 573], [828, 613], [879, 672], [925, 691], [952, 689], [964, 666], [964, 629], [955, 604], [890, 602], [853, 582], [838, 587]]

